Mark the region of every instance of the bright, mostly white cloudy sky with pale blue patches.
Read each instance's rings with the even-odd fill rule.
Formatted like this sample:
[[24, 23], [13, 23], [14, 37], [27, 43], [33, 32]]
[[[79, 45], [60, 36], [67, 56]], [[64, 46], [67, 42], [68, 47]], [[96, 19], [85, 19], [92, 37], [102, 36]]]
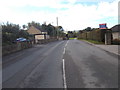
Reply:
[[0, 23], [27, 25], [35, 21], [56, 24], [65, 31], [118, 24], [119, 0], [0, 0]]

